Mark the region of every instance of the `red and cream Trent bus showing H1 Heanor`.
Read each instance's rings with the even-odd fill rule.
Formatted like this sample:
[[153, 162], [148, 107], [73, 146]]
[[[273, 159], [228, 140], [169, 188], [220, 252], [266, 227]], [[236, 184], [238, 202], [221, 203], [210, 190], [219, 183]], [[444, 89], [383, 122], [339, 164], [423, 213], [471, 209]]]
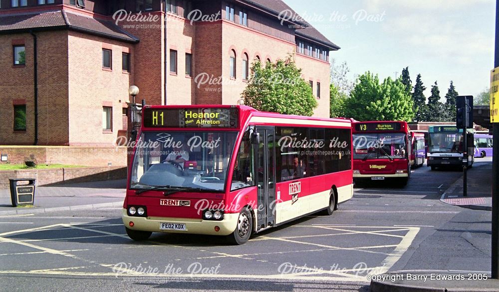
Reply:
[[248, 106], [146, 106], [128, 173], [123, 223], [152, 232], [252, 233], [352, 197], [351, 121]]

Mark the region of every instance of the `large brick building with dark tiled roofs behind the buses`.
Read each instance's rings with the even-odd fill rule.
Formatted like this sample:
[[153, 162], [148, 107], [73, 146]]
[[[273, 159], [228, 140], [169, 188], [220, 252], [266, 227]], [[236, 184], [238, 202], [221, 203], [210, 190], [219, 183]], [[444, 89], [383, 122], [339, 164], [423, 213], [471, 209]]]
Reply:
[[[255, 59], [292, 54], [329, 114], [339, 49], [281, 0], [0, 0], [0, 145], [115, 146], [147, 104], [236, 104]], [[166, 23], [166, 27], [165, 27]]]

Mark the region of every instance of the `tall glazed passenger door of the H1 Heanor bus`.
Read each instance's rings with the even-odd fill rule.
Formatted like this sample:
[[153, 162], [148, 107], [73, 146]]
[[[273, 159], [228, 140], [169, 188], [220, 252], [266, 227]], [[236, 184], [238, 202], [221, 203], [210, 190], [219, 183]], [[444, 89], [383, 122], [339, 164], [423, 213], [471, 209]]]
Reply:
[[256, 230], [275, 223], [275, 145], [274, 127], [256, 127], [260, 143], [255, 145], [256, 184], [258, 186], [258, 211]]

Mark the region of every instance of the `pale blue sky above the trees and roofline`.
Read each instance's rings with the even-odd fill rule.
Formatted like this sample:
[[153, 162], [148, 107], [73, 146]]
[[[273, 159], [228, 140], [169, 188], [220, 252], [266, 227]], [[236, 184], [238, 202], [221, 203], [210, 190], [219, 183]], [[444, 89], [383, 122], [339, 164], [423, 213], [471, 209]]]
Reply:
[[450, 81], [460, 95], [488, 90], [494, 68], [495, 0], [284, 0], [333, 43], [349, 78], [366, 71], [380, 80], [409, 67], [440, 96]]

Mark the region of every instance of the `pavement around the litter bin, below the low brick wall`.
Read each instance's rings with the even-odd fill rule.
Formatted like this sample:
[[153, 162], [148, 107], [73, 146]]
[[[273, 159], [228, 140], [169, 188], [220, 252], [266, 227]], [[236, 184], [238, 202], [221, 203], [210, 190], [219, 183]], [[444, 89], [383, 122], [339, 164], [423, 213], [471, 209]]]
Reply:
[[10, 190], [0, 189], [0, 215], [121, 207], [125, 194], [125, 179], [35, 186], [32, 206], [12, 207]]

